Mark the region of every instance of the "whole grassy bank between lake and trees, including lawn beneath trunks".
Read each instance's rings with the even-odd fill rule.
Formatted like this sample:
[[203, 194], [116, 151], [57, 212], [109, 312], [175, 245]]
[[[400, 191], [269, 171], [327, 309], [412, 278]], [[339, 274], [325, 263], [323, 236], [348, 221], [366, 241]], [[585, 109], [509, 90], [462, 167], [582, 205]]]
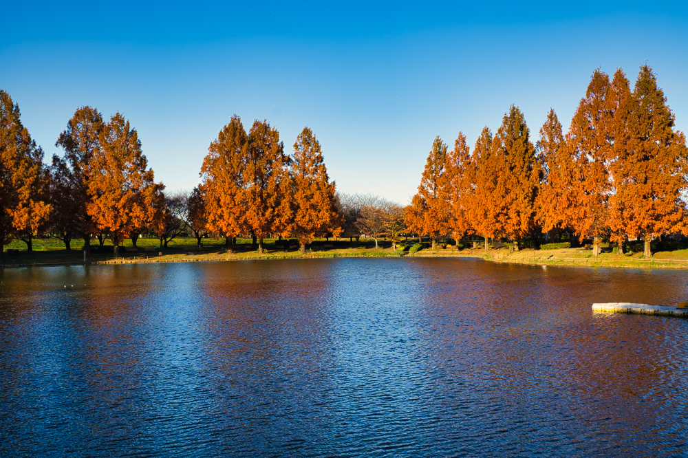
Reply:
[[[621, 268], [672, 268], [688, 269], [688, 250], [657, 252], [650, 259], [642, 253], [615, 254], [611, 250], [599, 257], [592, 257], [591, 250], [583, 248], [565, 248], [557, 250], [525, 249], [509, 253], [508, 248], [491, 248], [484, 251], [482, 246], [472, 248], [471, 243], [464, 243], [457, 248], [451, 245], [438, 244], [431, 250], [429, 243], [418, 246], [416, 241], [408, 241], [393, 250], [391, 242], [379, 241], [376, 250], [371, 239], [355, 241], [316, 240], [301, 254], [296, 243], [286, 243], [276, 239], [264, 241], [264, 253], [251, 245], [250, 239], [237, 239], [233, 253], [226, 250], [224, 239], [204, 239], [203, 249], [195, 250], [195, 239], [174, 239], [166, 248], [160, 248], [157, 239], [138, 239], [133, 248], [131, 240], [125, 241], [118, 257], [107, 252], [112, 246], [105, 244], [105, 252], [93, 252], [84, 259], [80, 244], [76, 250], [65, 250], [64, 244], [56, 239], [36, 239], [34, 250], [29, 252], [21, 241], [14, 241], [6, 250], [19, 250], [17, 254], [4, 253], [3, 266], [21, 267], [28, 265], [69, 265], [69, 264], [111, 264], [111, 263], [166, 263], [195, 261], [226, 261], [242, 259], [310, 259], [338, 257], [481, 257], [488, 261], [501, 263], [523, 263], [538, 265], [568, 265], [576, 267], [621, 267]], [[415, 246], [414, 246], [415, 245]], [[417, 251], [416, 251], [417, 250]]]

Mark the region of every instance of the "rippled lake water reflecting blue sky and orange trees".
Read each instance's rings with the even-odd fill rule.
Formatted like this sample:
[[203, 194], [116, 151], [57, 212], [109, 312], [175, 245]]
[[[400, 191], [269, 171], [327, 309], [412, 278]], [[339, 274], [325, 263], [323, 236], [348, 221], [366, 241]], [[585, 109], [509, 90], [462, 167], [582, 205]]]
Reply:
[[0, 270], [0, 455], [688, 453], [685, 272], [472, 259]]

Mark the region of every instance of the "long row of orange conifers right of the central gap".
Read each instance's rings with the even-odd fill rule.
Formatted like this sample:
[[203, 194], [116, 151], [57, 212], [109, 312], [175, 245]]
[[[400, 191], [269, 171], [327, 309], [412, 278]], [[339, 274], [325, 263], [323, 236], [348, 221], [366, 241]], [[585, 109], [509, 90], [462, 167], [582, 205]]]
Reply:
[[433, 239], [477, 234], [518, 241], [542, 232], [603, 239], [623, 250], [688, 232], [688, 150], [674, 129], [656, 76], [641, 67], [634, 90], [621, 69], [597, 69], [563, 135], [550, 110], [530, 141], [523, 113], [510, 107], [493, 135], [485, 127], [473, 152], [459, 133], [454, 149], [433, 142], [418, 194], [405, 212], [409, 230]]

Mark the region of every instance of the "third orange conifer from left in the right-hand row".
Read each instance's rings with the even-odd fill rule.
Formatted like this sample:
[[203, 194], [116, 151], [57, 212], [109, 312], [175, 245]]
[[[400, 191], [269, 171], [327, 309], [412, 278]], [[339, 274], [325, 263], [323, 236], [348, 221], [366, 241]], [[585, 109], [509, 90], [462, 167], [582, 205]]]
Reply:
[[471, 162], [466, 166], [466, 175], [473, 182], [472, 190], [464, 198], [466, 216], [475, 233], [485, 238], [485, 250], [488, 249], [488, 239], [501, 235], [497, 232], [499, 203], [502, 199], [497, 178], [501, 168], [492, 148], [492, 132], [484, 127], [475, 141]]

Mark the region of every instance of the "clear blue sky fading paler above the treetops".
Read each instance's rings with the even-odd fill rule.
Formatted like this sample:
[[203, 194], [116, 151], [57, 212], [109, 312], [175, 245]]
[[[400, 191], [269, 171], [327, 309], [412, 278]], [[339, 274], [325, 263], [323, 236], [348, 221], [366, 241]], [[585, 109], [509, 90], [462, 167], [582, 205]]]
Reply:
[[597, 67], [647, 62], [688, 129], [685, 2], [2, 3], [0, 88], [46, 160], [77, 107], [120, 111], [172, 190], [237, 113], [287, 153], [310, 127], [338, 189], [406, 204], [436, 135], [472, 145], [511, 104], [534, 142], [550, 107], [566, 129]]

